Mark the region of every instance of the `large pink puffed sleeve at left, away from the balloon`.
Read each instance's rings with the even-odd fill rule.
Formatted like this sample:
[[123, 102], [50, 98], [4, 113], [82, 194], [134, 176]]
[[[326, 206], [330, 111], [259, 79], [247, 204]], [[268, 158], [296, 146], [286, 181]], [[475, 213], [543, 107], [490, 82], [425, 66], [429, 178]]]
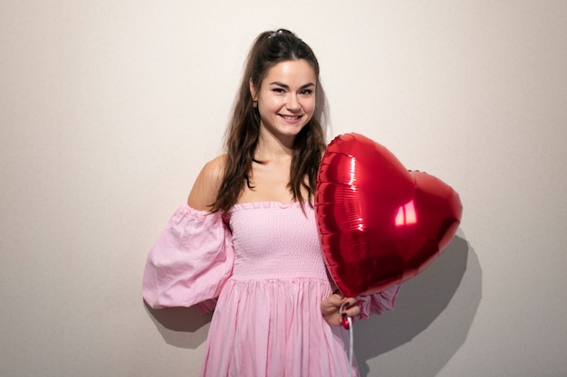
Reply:
[[231, 276], [232, 237], [220, 212], [181, 205], [149, 251], [142, 297], [153, 308], [214, 308], [216, 297]]

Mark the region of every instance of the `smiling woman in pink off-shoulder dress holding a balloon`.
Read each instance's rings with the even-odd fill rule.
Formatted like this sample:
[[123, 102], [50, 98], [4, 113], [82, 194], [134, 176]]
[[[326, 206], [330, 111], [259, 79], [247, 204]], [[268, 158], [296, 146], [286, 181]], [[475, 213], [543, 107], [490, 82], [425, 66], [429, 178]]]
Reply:
[[344, 316], [393, 307], [398, 287], [333, 294], [313, 211], [325, 148], [311, 48], [286, 30], [249, 52], [226, 134], [149, 253], [149, 306], [215, 309], [203, 376], [358, 375]]

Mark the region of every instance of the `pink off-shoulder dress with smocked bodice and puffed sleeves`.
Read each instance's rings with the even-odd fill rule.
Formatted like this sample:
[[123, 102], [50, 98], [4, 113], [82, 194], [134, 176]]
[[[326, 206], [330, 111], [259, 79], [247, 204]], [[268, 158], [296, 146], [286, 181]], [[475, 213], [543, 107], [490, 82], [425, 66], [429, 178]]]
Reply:
[[[348, 331], [321, 314], [333, 286], [314, 211], [305, 212], [299, 203], [240, 203], [223, 218], [185, 204], [150, 251], [149, 306], [215, 308], [202, 376], [358, 375]], [[359, 297], [360, 316], [392, 309], [398, 288]]]

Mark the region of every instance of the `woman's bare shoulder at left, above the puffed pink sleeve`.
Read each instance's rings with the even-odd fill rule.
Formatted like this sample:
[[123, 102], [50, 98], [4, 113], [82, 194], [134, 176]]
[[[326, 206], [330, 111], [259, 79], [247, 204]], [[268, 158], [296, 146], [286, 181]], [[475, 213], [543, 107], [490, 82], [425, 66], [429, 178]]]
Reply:
[[210, 210], [225, 174], [226, 157], [226, 155], [217, 156], [203, 166], [189, 193], [187, 199], [189, 207], [199, 211]]

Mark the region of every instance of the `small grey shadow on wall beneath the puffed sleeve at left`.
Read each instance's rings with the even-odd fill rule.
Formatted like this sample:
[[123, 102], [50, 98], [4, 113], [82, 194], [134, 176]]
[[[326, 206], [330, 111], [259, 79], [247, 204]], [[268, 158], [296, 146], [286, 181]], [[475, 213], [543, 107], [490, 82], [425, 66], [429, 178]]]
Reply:
[[144, 305], [167, 344], [195, 349], [207, 340], [212, 314], [201, 315], [196, 306], [152, 309]]

